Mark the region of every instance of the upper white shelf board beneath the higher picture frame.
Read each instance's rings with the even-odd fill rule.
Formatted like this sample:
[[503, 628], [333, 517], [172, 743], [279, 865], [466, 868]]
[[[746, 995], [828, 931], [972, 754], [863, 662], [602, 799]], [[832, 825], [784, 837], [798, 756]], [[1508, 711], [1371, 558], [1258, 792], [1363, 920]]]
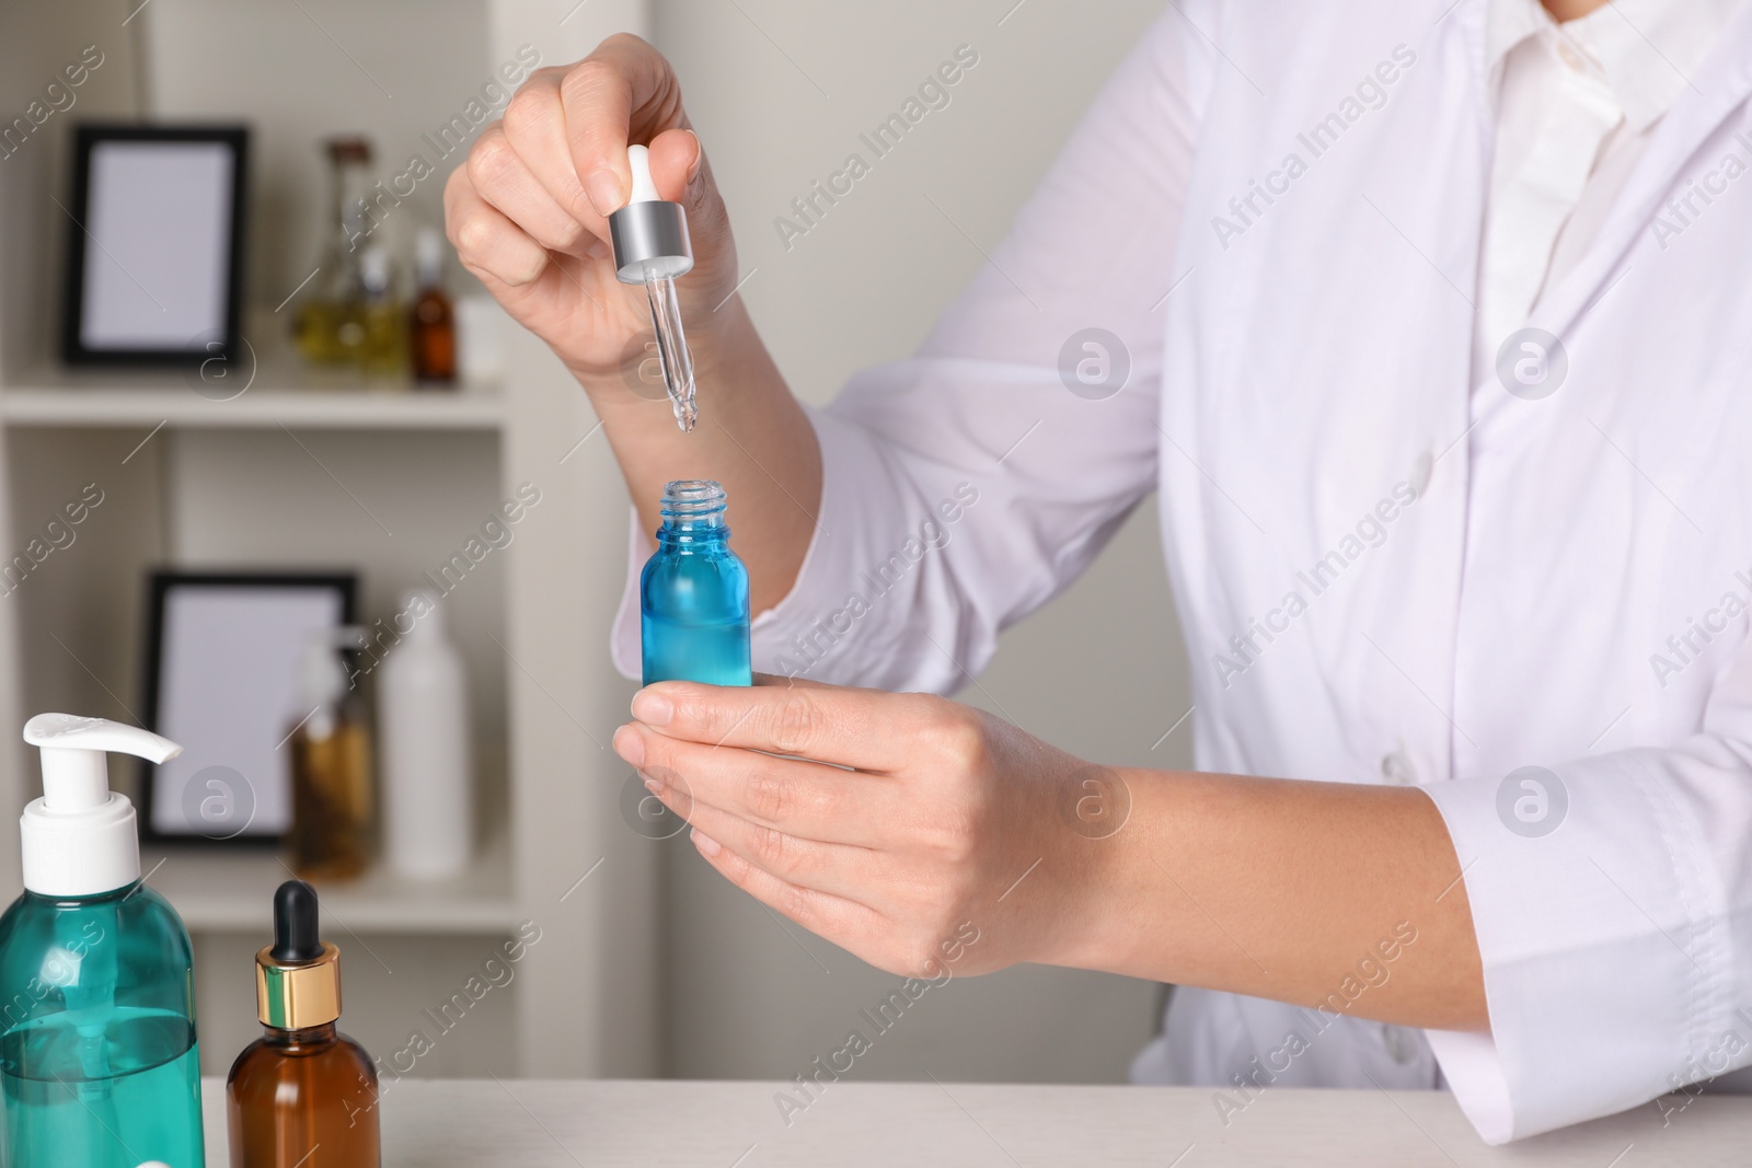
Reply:
[[0, 391], [0, 420], [32, 427], [498, 431], [505, 405], [492, 389], [413, 389], [296, 368], [265, 368], [245, 392], [214, 401], [180, 373], [56, 368]]

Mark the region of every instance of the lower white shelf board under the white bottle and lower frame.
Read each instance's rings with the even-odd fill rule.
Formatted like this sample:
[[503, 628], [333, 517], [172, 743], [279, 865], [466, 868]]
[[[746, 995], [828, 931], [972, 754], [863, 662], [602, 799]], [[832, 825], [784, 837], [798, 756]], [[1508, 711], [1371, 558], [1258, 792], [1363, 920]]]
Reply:
[[[273, 928], [273, 890], [291, 870], [272, 849], [142, 844], [140, 867], [191, 932]], [[512, 897], [510, 848], [491, 841], [461, 876], [412, 881], [373, 867], [356, 881], [317, 884], [322, 916], [356, 933], [498, 933], [522, 919]]]

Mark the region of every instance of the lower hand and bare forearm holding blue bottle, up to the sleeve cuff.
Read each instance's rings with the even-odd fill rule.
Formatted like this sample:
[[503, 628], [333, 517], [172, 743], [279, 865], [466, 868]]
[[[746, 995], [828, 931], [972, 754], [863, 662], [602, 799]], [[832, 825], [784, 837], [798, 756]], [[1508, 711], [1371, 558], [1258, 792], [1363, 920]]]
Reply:
[[1414, 788], [1111, 770], [944, 699], [778, 678], [664, 681], [632, 716], [615, 751], [718, 872], [894, 974], [1041, 961], [1487, 1023], [1459, 863]]

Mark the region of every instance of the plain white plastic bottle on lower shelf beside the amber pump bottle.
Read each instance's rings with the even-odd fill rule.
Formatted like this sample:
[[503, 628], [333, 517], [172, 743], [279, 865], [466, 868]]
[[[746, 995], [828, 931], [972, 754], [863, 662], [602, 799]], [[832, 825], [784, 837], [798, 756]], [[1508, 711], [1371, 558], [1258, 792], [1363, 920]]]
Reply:
[[401, 611], [413, 627], [384, 657], [377, 688], [384, 856], [403, 876], [431, 879], [468, 867], [475, 844], [468, 681], [443, 606], [408, 592]]

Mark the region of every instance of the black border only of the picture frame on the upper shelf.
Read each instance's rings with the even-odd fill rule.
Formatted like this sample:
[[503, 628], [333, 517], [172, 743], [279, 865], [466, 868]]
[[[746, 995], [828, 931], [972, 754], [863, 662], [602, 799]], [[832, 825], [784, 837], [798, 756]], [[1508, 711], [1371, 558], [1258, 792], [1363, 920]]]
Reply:
[[[91, 289], [86, 282], [86, 259], [89, 254], [105, 254], [102, 242], [91, 233], [91, 207], [93, 207], [93, 152], [114, 142], [124, 144], [161, 144], [161, 145], [186, 145], [186, 144], [214, 144], [221, 145], [231, 154], [231, 180], [230, 189], [223, 193], [230, 207], [230, 231], [226, 233], [226, 256], [223, 257], [221, 270], [224, 278], [224, 289], [221, 292], [221, 315], [223, 324], [217, 329], [217, 336], [210, 331], [198, 331], [186, 341], [166, 343], [166, 345], [142, 345], [142, 343], [88, 343], [86, 338], [86, 320], [88, 320], [88, 298]], [[68, 366], [198, 366], [207, 359], [224, 359], [230, 361], [238, 355], [238, 347], [242, 341], [240, 317], [242, 317], [242, 289], [244, 289], [244, 240], [245, 240], [245, 212], [247, 212], [247, 191], [249, 191], [249, 130], [240, 124], [180, 124], [180, 126], [161, 126], [161, 124], [133, 124], [133, 123], [79, 123], [74, 128], [74, 156], [72, 156], [72, 189], [68, 193], [68, 215], [72, 222], [67, 224], [67, 273], [63, 289], [63, 308], [61, 308], [61, 361]], [[114, 261], [114, 256], [110, 256]], [[119, 264], [119, 261], [116, 261]], [[140, 284], [140, 278], [151, 278], [151, 273], [142, 273], [135, 278], [128, 273], [137, 287], [145, 291], [152, 298], [147, 285]], [[156, 299], [156, 298], [154, 298]]]

